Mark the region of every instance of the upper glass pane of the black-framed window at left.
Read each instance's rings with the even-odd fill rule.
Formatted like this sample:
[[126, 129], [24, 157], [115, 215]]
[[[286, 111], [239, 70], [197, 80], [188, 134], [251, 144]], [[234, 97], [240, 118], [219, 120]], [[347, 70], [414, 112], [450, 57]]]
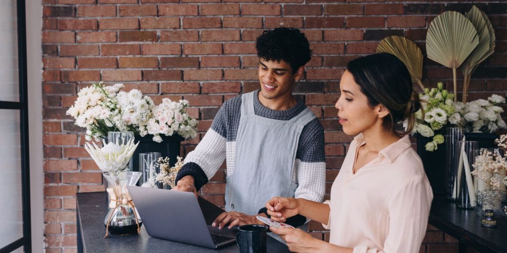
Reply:
[[16, 0], [0, 0], [0, 101], [19, 101]]

